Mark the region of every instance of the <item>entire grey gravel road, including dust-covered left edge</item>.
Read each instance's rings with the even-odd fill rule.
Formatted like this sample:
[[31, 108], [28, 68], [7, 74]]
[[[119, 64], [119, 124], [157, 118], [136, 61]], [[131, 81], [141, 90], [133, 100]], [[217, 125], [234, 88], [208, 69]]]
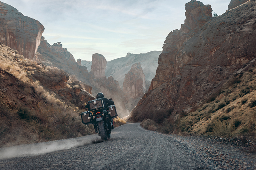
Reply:
[[96, 134], [23, 145], [15, 150], [2, 148], [0, 159], [3, 170], [256, 169], [256, 154], [246, 153], [239, 146], [220, 144], [207, 137], [161, 134], [141, 128], [140, 123], [115, 128], [107, 141], [101, 141]]

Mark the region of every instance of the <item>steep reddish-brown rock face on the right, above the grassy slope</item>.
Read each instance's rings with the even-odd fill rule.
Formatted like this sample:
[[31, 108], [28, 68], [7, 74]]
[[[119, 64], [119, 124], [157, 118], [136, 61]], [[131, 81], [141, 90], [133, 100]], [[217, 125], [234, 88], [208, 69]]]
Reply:
[[[192, 111], [215, 93], [220, 93], [233, 74], [255, 59], [255, 1], [216, 18], [211, 17], [210, 6], [198, 1], [191, 1], [185, 6], [185, 24], [167, 36], [158, 59], [156, 77], [132, 115], [138, 115], [142, 110], [163, 108], [173, 110], [172, 114]], [[193, 18], [205, 18], [205, 22], [208, 18], [204, 25], [202, 20], [197, 24], [199, 22], [188, 15], [194, 15], [190, 9], [200, 8], [198, 17]], [[186, 25], [190, 22], [194, 24]], [[192, 30], [190, 25], [196, 29]]]

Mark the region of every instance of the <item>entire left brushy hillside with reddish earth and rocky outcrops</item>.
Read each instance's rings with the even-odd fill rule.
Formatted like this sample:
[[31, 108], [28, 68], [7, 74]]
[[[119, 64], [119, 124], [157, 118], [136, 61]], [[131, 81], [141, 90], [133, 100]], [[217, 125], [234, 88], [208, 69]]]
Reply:
[[0, 146], [94, 133], [92, 126], [82, 124], [79, 113], [83, 110], [75, 101], [81, 103], [84, 98], [90, 100], [94, 97], [86, 92], [79, 96], [76, 89], [81, 92], [83, 89], [72, 85], [70, 80], [66, 84], [67, 74], [25, 59], [6, 46], [0, 46], [0, 59]]

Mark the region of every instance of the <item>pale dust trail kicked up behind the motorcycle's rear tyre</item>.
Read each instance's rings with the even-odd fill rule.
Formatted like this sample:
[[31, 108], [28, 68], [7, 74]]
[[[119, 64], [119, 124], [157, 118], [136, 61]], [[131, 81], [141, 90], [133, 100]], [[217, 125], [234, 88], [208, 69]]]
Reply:
[[98, 135], [89, 135], [86, 137], [0, 148], [0, 159], [34, 156], [54, 151], [68, 150], [100, 141], [101, 139]]

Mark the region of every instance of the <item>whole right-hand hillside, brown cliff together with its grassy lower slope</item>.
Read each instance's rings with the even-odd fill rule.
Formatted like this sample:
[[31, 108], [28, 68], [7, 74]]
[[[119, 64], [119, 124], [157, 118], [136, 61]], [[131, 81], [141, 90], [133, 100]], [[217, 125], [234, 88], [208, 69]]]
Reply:
[[169, 127], [167, 133], [177, 132], [181, 122], [183, 130], [204, 134], [219, 117], [222, 124], [227, 121], [225, 127], [235, 121], [238, 131], [251, 125], [254, 129], [254, 87], [248, 84], [254, 76], [239, 78], [255, 70], [256, 2], [239, 5], [214, 18], [210, 5], [185, 5], [185, 23], [167, 36], [156, 76], [130, 121], [151, 119], [152, 124]]

